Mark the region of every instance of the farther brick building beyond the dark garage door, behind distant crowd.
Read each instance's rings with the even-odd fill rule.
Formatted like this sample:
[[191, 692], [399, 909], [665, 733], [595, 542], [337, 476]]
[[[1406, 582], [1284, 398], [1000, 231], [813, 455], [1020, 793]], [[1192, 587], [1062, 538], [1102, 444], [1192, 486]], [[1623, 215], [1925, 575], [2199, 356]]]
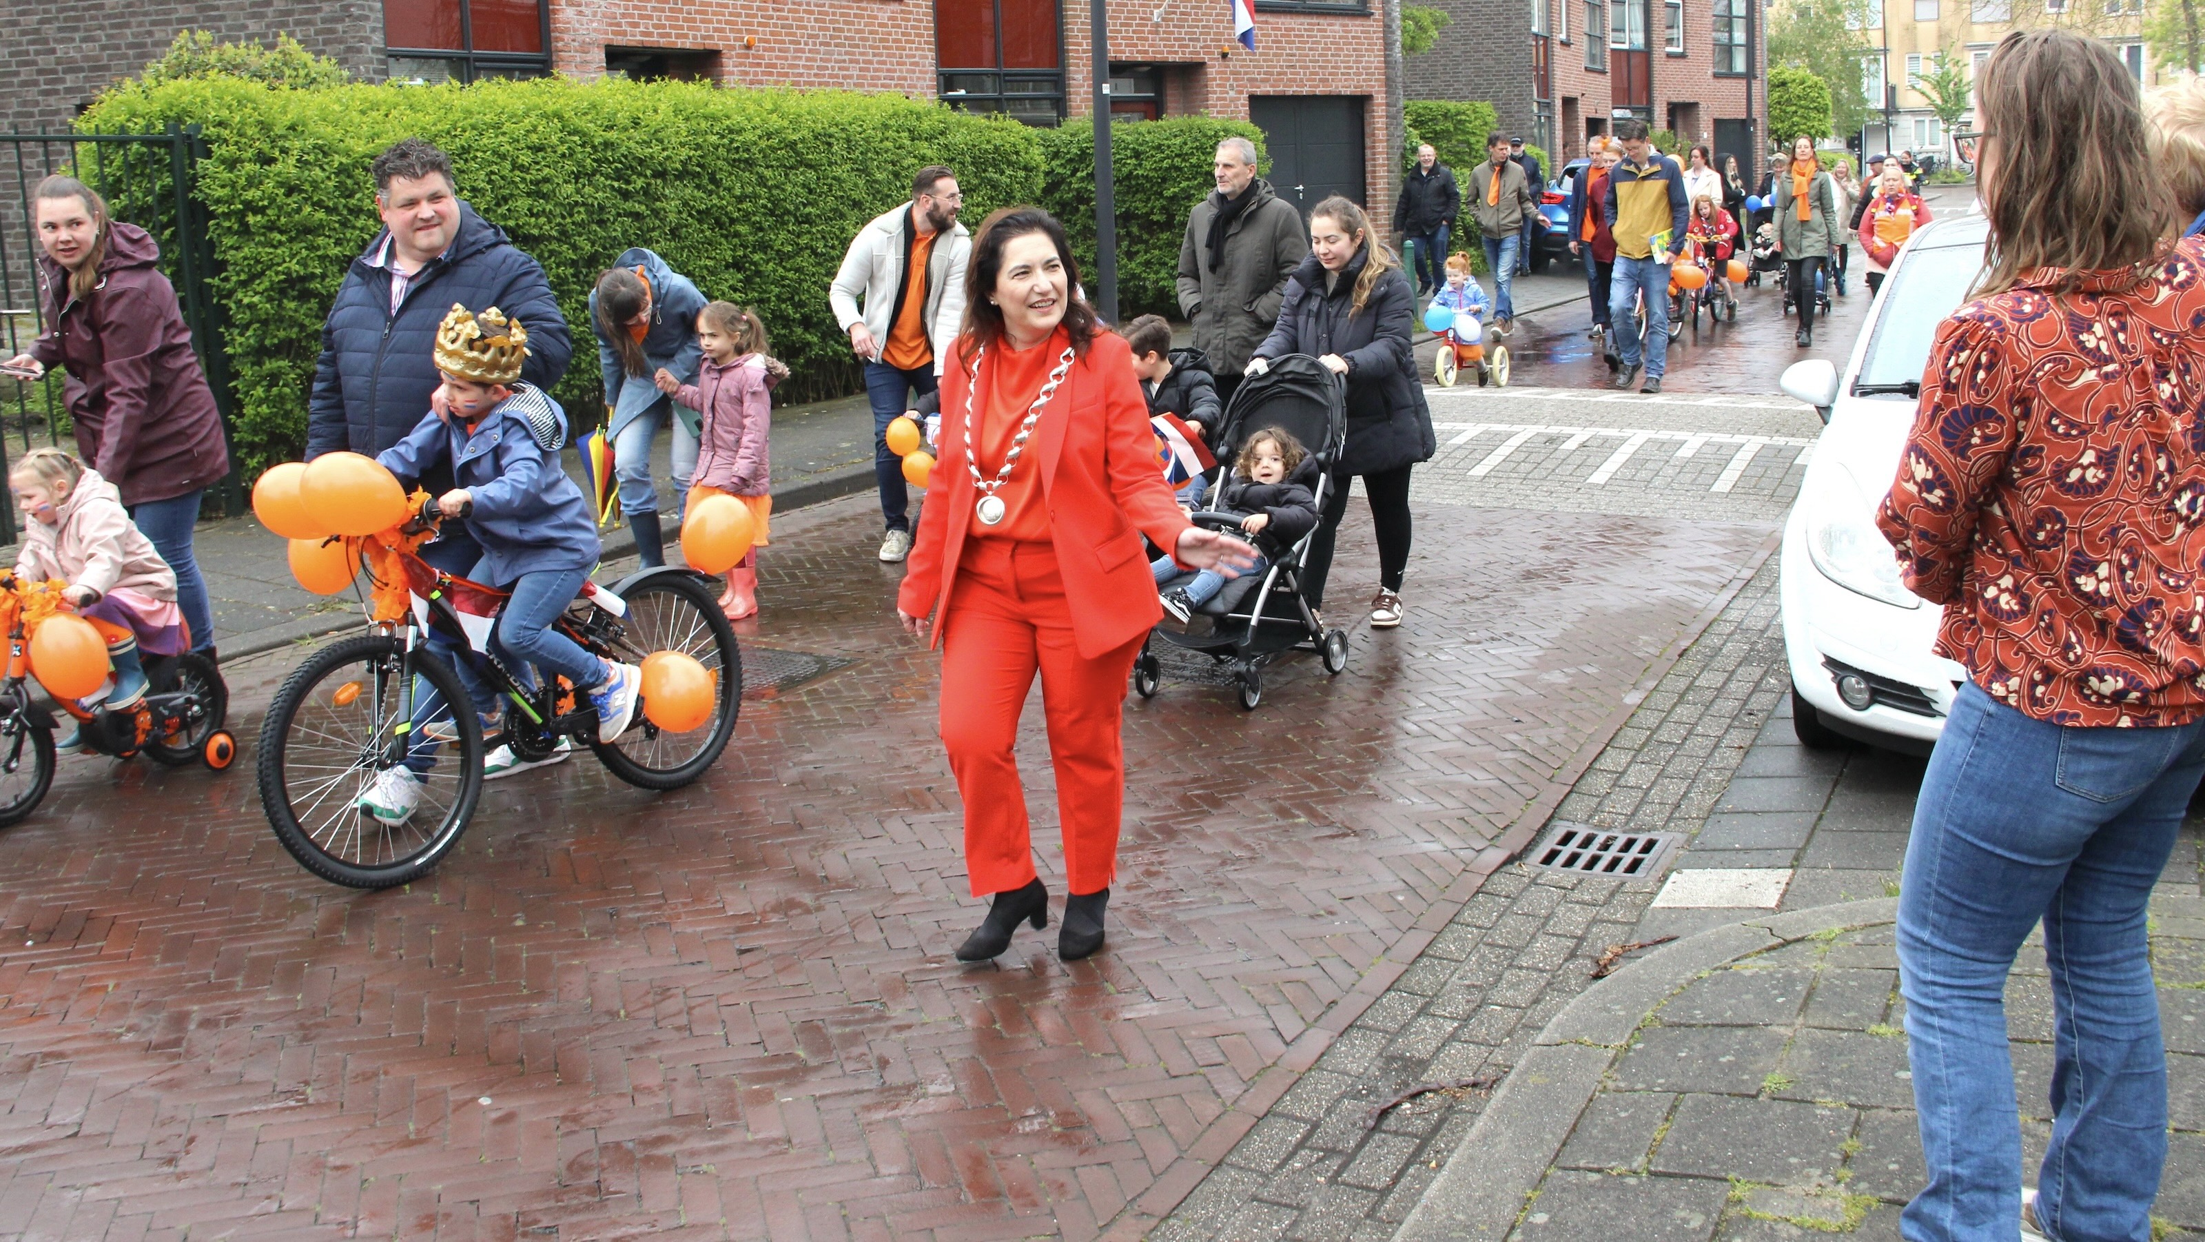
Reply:
[[[1491, 99], [1502, 128], [1557, 163], [1585, 154], [1616, 117], [1638, 117], [1757, 168], [1768, 124], [1760, 0], [1438, 4], [1453, 22], [1409, 57], [1409, 99]], [[1495, 51], [1510, 44], [1528, 55]]]

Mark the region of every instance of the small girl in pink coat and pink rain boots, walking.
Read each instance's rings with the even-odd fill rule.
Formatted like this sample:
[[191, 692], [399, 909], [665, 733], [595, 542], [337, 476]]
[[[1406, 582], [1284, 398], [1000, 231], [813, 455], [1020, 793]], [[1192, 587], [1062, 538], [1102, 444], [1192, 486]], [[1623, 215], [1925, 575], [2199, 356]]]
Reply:
[[684, 384], [664, 366], [653, 377], [659, 393], [703, 415], [699, 428], [697, 479], [684, 512], [697, 512], [706, 496], [734, 496], [750, 507], [750, 552], [728, 571], [719, 609], [728, 620], [759, 615], [759, 547], [765, 518], [774, 512], [774, 472], [767, 459], [772, 388], [787, 375], [765, 355], [765, 324], [750, 307], [710, 302], [697, 311], [697, 344], [703, 364], [695, 384]]

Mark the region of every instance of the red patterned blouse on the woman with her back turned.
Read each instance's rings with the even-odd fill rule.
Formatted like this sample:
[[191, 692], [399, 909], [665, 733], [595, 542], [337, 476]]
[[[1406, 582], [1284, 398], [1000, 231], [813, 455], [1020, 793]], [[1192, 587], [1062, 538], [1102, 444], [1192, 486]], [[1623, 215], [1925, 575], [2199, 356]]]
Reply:
[[1876, 525], [1945, 604], [1936, 651], [2077, 726], [2205, 715], [2205, 240], [1960, 307]]

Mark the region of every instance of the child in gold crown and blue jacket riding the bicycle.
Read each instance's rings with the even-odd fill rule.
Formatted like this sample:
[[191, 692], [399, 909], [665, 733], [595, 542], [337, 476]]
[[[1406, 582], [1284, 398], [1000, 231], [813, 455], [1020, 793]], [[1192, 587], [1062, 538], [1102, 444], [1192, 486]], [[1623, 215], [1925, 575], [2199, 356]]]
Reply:
[[[584, 688], [598, 708], [598, 739], [613, 741], [635, 719], [644, 673], [600, 660], [551, 629], [598, 567], [600, 547], [589, 501], [558, 461], [567, 413], [542, 388], [518, 382], [527, 340], [527, 329], [496, 307], [474, 315], [454, 304], [434, 346], [450, 415], [430, 410], [377, 461], [406, 485], [450, 463], [454, 488], [437, 496], [437, 507], [465, 516], [483, 545], [467, 578], [509, 593], [492, 651], [507, 664], [534, 664]], [[465, 660], [459, 664], [465, 668]], [[472, 679], [470, 690], [481, 695]], [[474, 706], [494, 704], [478, 697]], [[406, 765], [386, 768], [362, 794], [362, 807], [384, 823], [406, 823], [421, 801], [415, 768], [428, 770], [430, 754], [415, 750]], [[492, 759], [485, 757], [485, 770]]]

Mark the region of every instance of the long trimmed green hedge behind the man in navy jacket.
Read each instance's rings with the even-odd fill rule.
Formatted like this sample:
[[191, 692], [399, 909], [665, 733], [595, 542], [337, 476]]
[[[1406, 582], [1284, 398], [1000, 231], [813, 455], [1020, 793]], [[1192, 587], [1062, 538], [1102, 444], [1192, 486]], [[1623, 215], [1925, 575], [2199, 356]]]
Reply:
[[948, 163], [966, 218], [1041, 196], [1041, 137], [895, 95], [717, 90], [571, 79], [273, 90], [203, 77], [110, 90], [84, 130], [205, 126], [198, 168], [247, 477], [298, 454], [322, 318], [379, 227], [368, 161], [419, 135], [459, 192], [536, 256], [576, 333], [558, 386], [573, 421], [602, 410], [589, 291], [646, 245], [710, 298], [747, 302], [794, 375], [787, 399], [847, 393], [858, 364], [827, 285], [849, 238]]

